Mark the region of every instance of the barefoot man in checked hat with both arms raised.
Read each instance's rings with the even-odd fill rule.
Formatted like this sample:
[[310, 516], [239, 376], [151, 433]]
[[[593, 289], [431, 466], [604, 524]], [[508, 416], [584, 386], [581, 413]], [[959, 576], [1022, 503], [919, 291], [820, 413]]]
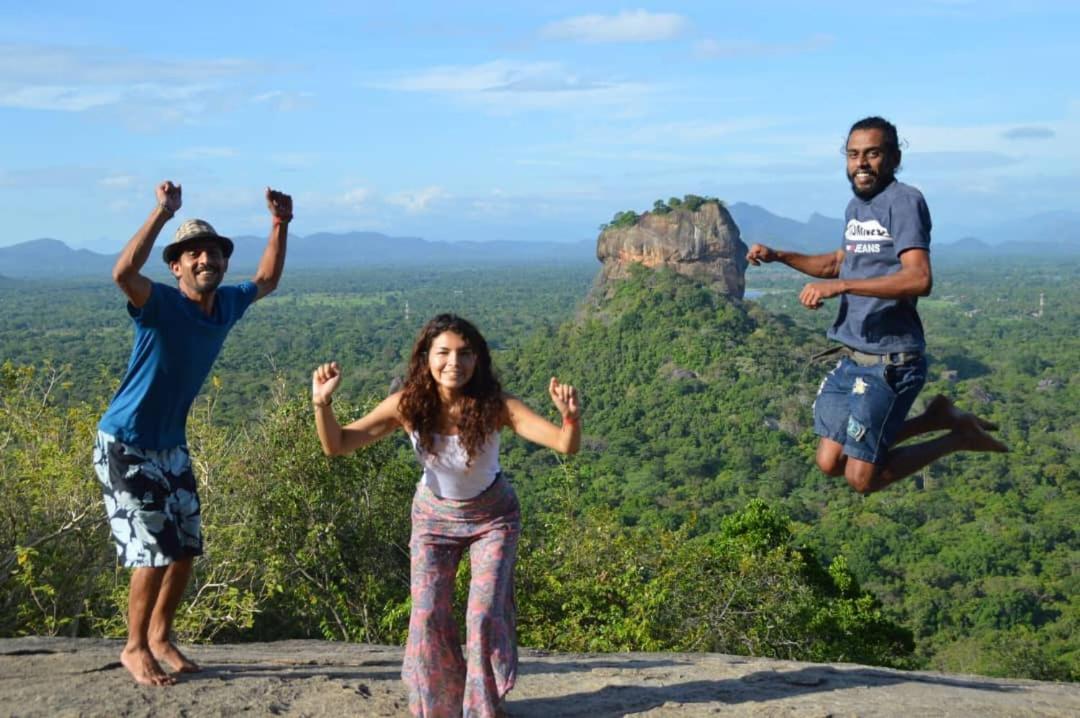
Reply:
[[170, 286], [139, 271], [180, 208], [179, 185], [162, 182], [157, 195], [158, 206], [112, 269], [112, 280], [127, 297], [135, 346], [98, 423], [94, 470], [117, 553], [135, 569], [120, 661], [139, 683], [167, 686], [176, 679], [159, 661], [178, 673], [199, 670], [171, 636], [192, 559], [202, 554], [199, 492], [185, 436], [188, 410], [229, 329], [253, 301], [278, 286], [293, 199], [267, 188], [270, 240], [254, 279], [238, 286], [219, 286], [232, 241], [201, 219], [181, 223], [163, 253], [176, 277], [176, 286]]

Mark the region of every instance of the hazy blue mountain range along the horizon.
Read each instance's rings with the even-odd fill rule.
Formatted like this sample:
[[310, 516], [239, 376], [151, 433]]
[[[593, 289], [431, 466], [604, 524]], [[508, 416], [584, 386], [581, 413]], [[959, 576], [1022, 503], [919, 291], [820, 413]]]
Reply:
[[[807, 221], [774, 215], [744, 202], [728, 205], [746, 244], [761, 242], [797, 252], [828, 252], [839, 244], [843, 220], [813, 214]], [[164, 274], [160, 260], [165, 234], [149, 263], [151, 274]], [[234, 238], [231, 269], [251, 271], [258, 263], [265, 238]], [[963, 239], [936, 242], [935, 254], [956, 257], [1016, 256], [1032, 252], [1051, 256], [1080, 255], [1080, 213], [1056, 212], [966, 230]], [[3, 277], [40, 279], [108, 276], [116, 255], [72, 249], [58, 240], [31, 240], [0, 247]], [[536, 265], [594, 263], [595, 240], [578, 242], [429, 242], [416, 236], [388, 236], [378, 232], [318, 233], [291, 236], [289, 269], [348, 269], [352, 267], [416, 267], [423, 265]], [[157, 268], [157, 269], [156, 269]]]

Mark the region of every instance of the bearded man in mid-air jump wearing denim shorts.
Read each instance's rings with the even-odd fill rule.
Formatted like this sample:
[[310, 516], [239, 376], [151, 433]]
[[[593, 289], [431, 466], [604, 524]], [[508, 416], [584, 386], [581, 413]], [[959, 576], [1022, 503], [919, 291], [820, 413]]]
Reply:
[[[1008, 451], [988, 431], [996, 425], [961, 411], [941, 394], [907, 418], [927, 380], [926, 340], [916, 311], [930, 294], [930, 211], [919, 190], [896, 181], [901, 150], [896, 127], [879, 117], [851, 126], [848, 204], [840, 249], [801, 255], [762, 244], [750, 248], [755, 266], [780, 261], [824, 282], [804, 287], [799, 301], [818, 309], [839, 296], [828, 338], [842, 354], [814, 402], [818, 465], [869, 493], [954, 451]], [[893, 448], [934, 431], [940, 438]]]

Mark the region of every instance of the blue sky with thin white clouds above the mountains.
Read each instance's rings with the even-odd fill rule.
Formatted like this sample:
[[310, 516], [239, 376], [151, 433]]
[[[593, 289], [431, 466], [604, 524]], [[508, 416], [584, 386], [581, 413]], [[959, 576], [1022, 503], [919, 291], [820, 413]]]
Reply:
[[[1080, 3], [0, 4], [0, 245], [118, 250], [186, 217], [294, 232], [593, 239], [688, 192], [840, 216], [866, 114], [948, 241], [1075, 209]], [[1071, 69], [1070, 69], [1071, 68]]]

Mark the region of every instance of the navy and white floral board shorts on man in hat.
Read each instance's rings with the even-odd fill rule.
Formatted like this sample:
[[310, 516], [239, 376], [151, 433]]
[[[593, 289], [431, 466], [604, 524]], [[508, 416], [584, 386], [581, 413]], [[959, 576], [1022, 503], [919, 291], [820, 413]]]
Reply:
[[98, 431], [94, 471], [125, 567], [161, 567], [202, 555], [199, 492], [186, 446], [141, 449]]

